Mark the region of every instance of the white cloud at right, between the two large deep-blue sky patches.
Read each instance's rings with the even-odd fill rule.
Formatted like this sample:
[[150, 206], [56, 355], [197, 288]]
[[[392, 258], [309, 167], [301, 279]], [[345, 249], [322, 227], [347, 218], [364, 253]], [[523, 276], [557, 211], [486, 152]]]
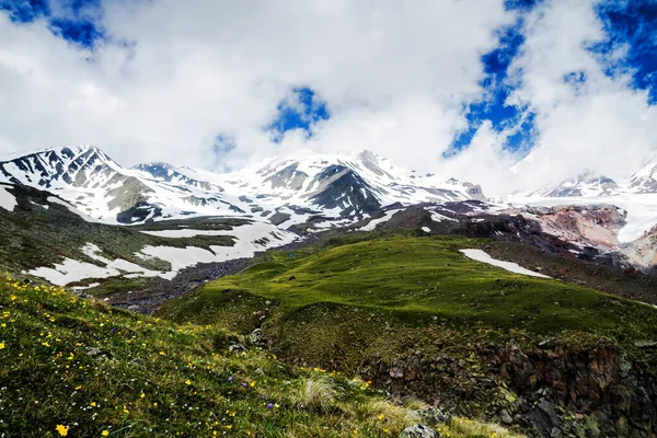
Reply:
[[[633, 91], [627, 77], [607, 77], [586, 49], [603, 37], [596, 3], [553, 0], [528, 18], [523, 53], [512, 66], [521, 83], [514, 100], [537, 112], [539, 138], [531, 160], [518, 165], [518, 187], [585, 171], [623, 178], [657, 149], [657, 108], [647, 94]], [[578, 88], [563, 80], [574, 71], [586, 74]]]

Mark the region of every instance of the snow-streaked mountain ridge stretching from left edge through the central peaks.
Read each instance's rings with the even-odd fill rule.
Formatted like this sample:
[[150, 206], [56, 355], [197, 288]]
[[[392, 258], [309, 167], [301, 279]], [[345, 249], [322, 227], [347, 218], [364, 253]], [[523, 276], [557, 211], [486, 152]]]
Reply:
[[168, 163], [126, 169], [99, 148], [65, 147], [0, 162], [0, 182], [53, 192], [95, 219], [120, 223], [240, 216], [288, 228], [360, 220], [395, 203], [484, 199], [477, 185], [418, 175], [367, 151], [300, 152], [214, 174]]

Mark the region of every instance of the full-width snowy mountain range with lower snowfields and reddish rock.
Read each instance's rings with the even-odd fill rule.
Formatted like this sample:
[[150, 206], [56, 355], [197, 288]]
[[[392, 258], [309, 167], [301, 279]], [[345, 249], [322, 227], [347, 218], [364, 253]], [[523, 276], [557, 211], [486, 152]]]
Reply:
[[[592, 249], [612, 254], [621, 266], [653, 270], [656, 177], [657, 163], [646, 162], [620, 184], [584, 172], [555, 186], [494, 200], [476, 184], [408, 171], [369, 151], [301, 151], [217, 174], [161, 162], [127, 169], [96, 147], [62, 147], [0, 161], [0, 207], [14, 211], [19, 205], [25, 212], [58, 204], [56, 209], [87, 223], [130, 226], [120, 232], [131, 229], [139, 234], [132, 241], [143, 241], [143, 234], [170, 239], [166, 244], [145, 242], [131, 252], [110, 251], [102, 240], [81, 239], [74, 249], [59, 245], [51, 258], [22, 265], [25, 272], [57, 278], [62, 285], [122, 273], [172, 278], [197, 263], [251, 256], [332, 229], [415, 227], [443, 232], [492, 221], [486, 237], [520, 239], [522, 233], [507, 226], [496, 228], [495, 218], [508, 216], [522, 217], [534, 223], [530, 228], [575, 245], [567, 250], [573, 254]], [[48, 195], [24, 195], [19, 201], [12, 187]], [[232, 250], [226, 250], [227, 237]], [[187, 245], [180, 247], [183, 242]], [[99, 273], [97, 265], [105, 270]]]

